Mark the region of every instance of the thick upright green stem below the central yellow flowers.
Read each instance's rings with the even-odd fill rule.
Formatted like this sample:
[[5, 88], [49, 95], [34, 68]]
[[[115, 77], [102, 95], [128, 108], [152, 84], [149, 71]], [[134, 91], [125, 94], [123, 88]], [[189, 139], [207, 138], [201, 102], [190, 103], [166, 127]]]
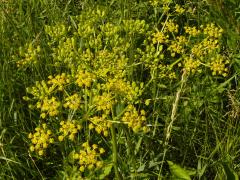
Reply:
[[121, 180], [121, 176], [118, 172], [118, 164], [117, 164], [117, 140], [116, 140], [116, 132], [114, 124], [111, 126], [111, 134], [112, 134], [112, 151], [113, 151], [113, 165], [114, 165], [114, 171], [115, 176], [118, 180]]

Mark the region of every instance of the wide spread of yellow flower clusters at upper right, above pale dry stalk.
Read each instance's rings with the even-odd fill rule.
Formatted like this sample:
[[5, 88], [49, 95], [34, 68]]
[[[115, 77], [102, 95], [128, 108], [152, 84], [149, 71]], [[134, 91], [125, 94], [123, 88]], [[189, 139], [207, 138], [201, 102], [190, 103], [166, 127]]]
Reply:
[[[181, 8], [178, 4], [175, 6], [175, 9], [178, 9], [178, 13], [185, 12]], [[211, 65], [209, 63], [210, 58], [219, 51], [219, 39], [223, 30], [216, 27], [213, 23], [200, 26], [199, 28], [197, 26], [185, 26], [185, 35], [176, 36], [175, 33], [178, 33], [178, 28], [178, 24], [173, 19], [166, 20], [162, 23], [163, 31], [151, 34], [151, 37], [144, 41], [145, 49], [138, 48], [137, 52], [139, 55], [135, 57], [146, 68], [149, 68], [150, 73], [157, 74], [158, 78], [176, 78], [177, 74], [174, 68], [176, 64], [181, 64], [179, 63], [181, 60], [183, 60], [183, 68], [191, 73], [195, 71], [201, 72], [201, 64], [208, 65], [208, 67], [211, 66], [212, 70], [216, 70], [218, 67], [219, 70], [214, 71], [214, 74], [223, 73], [223, 67], [226, 64], [223, 63], [223, 65], [221, 61], [213, 61]], [[165, 44], [163, 45], [163, 43]], [[178, 54], [180, 59], [171, 59], [170, 62], [164, 61], [166, 59], [165, 47], [172, 57]], [[188, 58], [185, 58], [186, 56]], [[226, 76], [226, 71], [224, 72], [223, 74]]]

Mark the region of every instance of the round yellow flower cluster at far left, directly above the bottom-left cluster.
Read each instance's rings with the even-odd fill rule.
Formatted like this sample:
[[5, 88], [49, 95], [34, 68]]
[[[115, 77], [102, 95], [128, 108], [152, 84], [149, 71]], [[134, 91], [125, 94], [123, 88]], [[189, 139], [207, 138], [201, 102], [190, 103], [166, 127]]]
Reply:
[[56, 116], [59, 113], [59, 106], [61, 103], [57, 101], [56, 97], [52, 97], [51, 99], [48, 99], [48, 97], [45, 97], [43, 99], [43, 102], [37, 102], [37, 108], [41, 109], [41, 118], [45, 118], [47, 115], [49, 116]]

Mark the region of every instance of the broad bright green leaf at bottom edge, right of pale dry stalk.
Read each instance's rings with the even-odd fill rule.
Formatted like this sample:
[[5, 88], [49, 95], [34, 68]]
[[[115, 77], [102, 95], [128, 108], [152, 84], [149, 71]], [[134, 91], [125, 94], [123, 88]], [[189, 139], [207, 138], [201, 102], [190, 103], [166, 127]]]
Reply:
[[184, 168], [180, 167], [177, 164], [174, 164], [172, 161], [167, 161], [167, 162], [168, 162], [171, 174], [173, 175], [174, 178], [191, 180], [187, 170], [185, 170]]

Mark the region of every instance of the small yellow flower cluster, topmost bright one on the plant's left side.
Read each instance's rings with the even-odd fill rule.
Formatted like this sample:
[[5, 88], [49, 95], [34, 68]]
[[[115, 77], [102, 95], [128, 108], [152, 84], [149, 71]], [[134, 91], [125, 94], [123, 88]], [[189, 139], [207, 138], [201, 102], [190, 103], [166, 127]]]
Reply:
[[59, 91], [62, 91], [64, 88], [64, 85], [70, 83], [69, 77], [66, 75], [66, 73], [58, 74], [55, 77], [48, 76], [48, 84], [52, 85], [53, 87], [58, 87]]

